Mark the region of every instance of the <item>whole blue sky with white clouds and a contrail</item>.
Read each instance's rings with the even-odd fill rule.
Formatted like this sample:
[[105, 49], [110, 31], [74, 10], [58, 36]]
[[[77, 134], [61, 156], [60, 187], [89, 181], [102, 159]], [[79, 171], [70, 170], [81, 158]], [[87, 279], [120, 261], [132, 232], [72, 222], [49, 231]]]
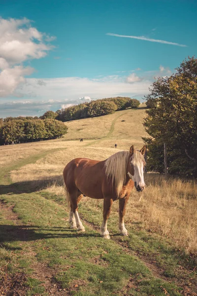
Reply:
[[0, 117], [143, 102], [197, 53], [196, 0], [0, 0]]

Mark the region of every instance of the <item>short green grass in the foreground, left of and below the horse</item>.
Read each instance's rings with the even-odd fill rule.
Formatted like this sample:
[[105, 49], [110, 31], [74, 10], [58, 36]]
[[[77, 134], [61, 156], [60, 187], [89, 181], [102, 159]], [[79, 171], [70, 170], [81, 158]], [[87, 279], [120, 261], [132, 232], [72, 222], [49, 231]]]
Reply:
[[[138, 291], [133, 290], [136, 295], [164, 295], [161, 287], [171, 291], [169, 295], [180, 295], [178, 288], [155, 278], [141, 260], [124, 253], [114, 240], [103, 240], [88, 226], [85, 234], [69, 229], [61, 199], [57, 202], [52, 196], [46, 199], [43, 193], [23, 193], [3, 195], [1, 200], [6, 205], [14, 204], [19, 221], [13, 225], [6, 219], [1, 221], [4, 256], [0, 266], [9, 266], [9, 272], [30, 274], [28, 295], [45, 293], [40, 281], [31, 276], [35, 262], [44, 262], [56, 270], [56, 281], [72, 295], [121, 295], [130, 277], [137, 283]], [[96, 259], [100, 264], [95, 263]]]

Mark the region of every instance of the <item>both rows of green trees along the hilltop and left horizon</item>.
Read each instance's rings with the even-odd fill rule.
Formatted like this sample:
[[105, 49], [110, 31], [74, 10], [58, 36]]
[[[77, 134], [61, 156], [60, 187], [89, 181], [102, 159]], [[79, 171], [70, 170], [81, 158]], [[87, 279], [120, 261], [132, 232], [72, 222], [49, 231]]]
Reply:
[[37, 116], [0, 118], [0, 145], [62, 137], [67, 132], [65, 121], [111, 114], [117, 110], [137, 108], [139, 101], [128, 97], [106, 98], [74, 105], [66, 109], [46, 111]]

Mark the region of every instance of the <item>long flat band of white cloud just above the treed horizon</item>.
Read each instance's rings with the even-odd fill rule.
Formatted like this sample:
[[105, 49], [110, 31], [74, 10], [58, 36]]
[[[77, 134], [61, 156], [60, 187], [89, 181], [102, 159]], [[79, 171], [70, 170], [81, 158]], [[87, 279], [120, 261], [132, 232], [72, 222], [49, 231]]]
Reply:
[[[20, 71], [23, 71], [23, 68]], [[132, 73], [128, 77], [126, 75], [109, 75], [100, 76], [97, 79], [81, 77], [26, 78], [26, 83], [22, 84], [20, 88], [17, 87], [18, 92], [15, 91], [15, 94], [18, 96], [20, 94], [24, 100], [21, 98], [16, 98], [14, 101], [11, 98], [2, 99], [0, 117], [37, 116], [48, 110], [57, 111], [84, 101], [89, 102], [91, 99], [106, 97], [128, 96], [141, 100], [149, 92], [148, 89], [154, 81], [154, 77], [168, 75], [169, 72], [168, 68], [164, 68], [164, 70], [162, 68], [162, 72], [161, 69], [144, 72], [141, 77]]]

